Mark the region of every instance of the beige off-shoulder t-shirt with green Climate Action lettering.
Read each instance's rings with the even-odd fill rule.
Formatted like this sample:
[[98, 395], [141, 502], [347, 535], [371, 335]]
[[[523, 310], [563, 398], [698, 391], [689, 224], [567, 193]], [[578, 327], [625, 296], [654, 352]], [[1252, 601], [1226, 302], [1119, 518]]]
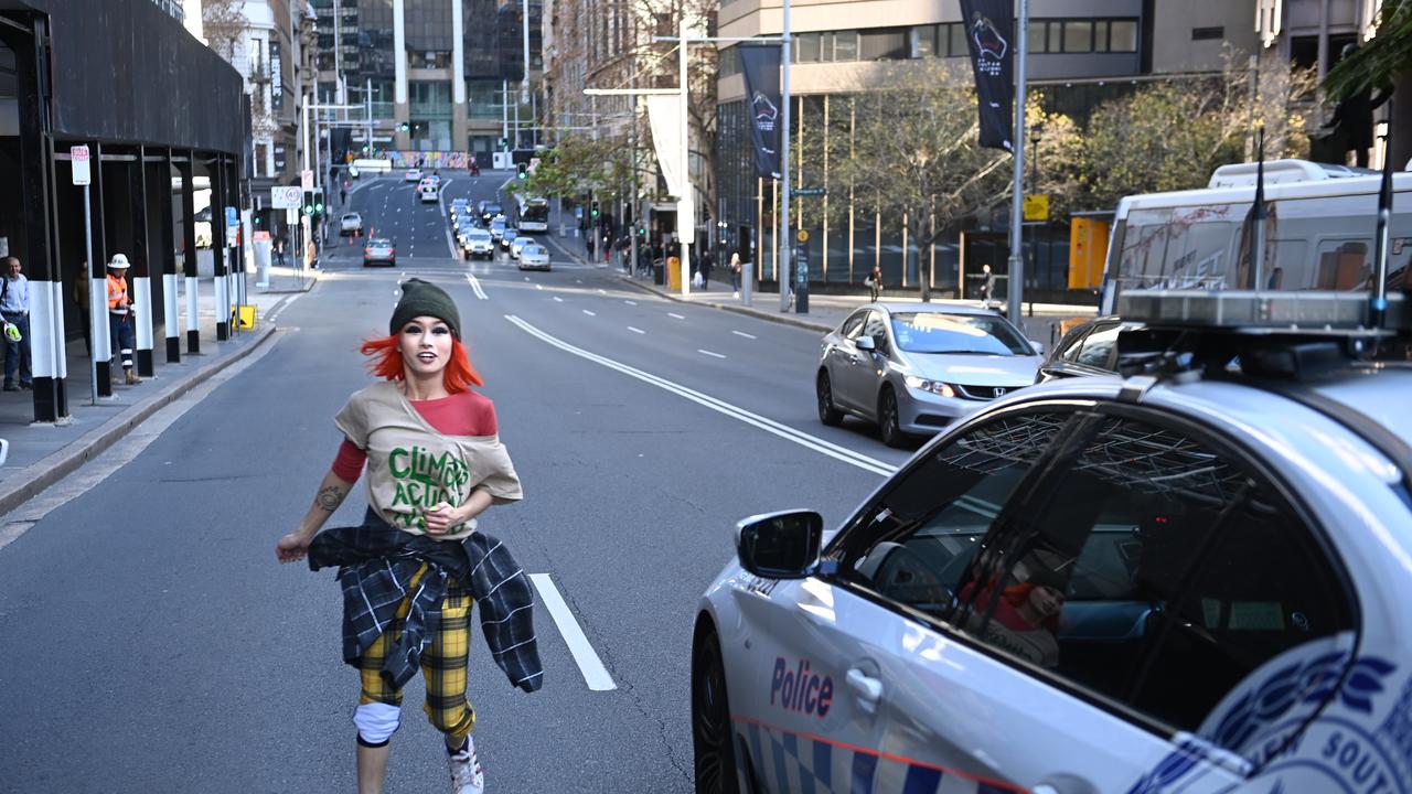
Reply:
[[[462, 504], [477, 487], [498, 499], [524, 499], [498, 435], [442, 435], [391, 381], [356, 391], [333, 424], [367, 452], [367, 503], [400, 530], [426, 534], [425, 510], [441, 502]], [[465, 540], [474, 530], [472, 519], [436, 540]]]

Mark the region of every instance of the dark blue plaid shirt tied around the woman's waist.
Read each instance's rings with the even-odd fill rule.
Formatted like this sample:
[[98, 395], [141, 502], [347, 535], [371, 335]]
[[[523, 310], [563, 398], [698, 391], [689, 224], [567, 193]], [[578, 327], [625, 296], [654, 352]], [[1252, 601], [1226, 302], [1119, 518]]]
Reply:
[[[424, 562], [426, 574], [414, 583]], [[332, 565], [343, 588], [345, 663], [357, 667], [408, 599], [402, 636], [383, 663], [383, 675], [401, 689], [417, 675], [441, 620], [448, 579], [456, 579], [480, 608], [486, 644], [510, 684], [525, 692], [544, 684], [530, 578], [498, 540], [474, 533], [459, 543], [438, 541], [404, 533], [369, 510], [361, 526], [325, 530], [309, 544], [309, 569]]]

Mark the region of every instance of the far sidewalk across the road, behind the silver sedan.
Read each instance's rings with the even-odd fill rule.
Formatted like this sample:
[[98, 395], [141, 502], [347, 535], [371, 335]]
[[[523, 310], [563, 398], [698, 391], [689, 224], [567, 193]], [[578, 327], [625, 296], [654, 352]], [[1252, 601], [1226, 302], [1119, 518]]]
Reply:
[[[568, 213], [566, 213], [568, 215]], [[566, 256], [573, 257], [580, 264], [596, 264], [602, 267], [609, 267], [618, 274], [618, 278], [624, 284], [637, 287], [647, 292], [652, 292], [669, 301], [696, 304], [703, 307], [714, 307], [723, 311], [731, 311], [760, 319], [767, 319], [770, 322], [782, 322], [785, 325], [794, 325], [798, 328], [806, 328], [809, 331], [818, 331], [820, 333], [827, 333], [839, 326], [846, 316], [853, 314], [853, 309], [868, 302], [867, 290], [860, 288], [856, 295], [834, 295], [834, 294], [809, 294], [809, 314], [796, 314], [794, 308], [788, 312], [779, 311], [779, 291], [760, 291], [751, 292], [751, 305], [744, 305], [744, 295], [733, 297], [730, 290], [730, 273], [726, 267], [717, 264], [712, 271], [712, 281], [709, 290], [692, 288], [690, 295], [682, 297], [679, 292], [671, 292], [666, 287], [652, 283], [651, 277], [638, 277], [627, 274], [620, 266], [620, 257], [614, 253], [611, 261], [604, 264], [602, 259], [590, 263], [587, 259], [587, 251], [582, 236], [573, 236], [575, 220], [572, 216], [565, 218], [568, 222], [569, 235], [559, 237], [556, 235], [556, 218], [551, 213], [551, 226], [548, 239], [563, 251]], [[599, 251], [599, 257], [602, 257]], [[884, 290], [881, 302], [891, 301], [918, 301], [921, 297], [914, 292], [902, 292], [899, 290]], [[932, 298], [939, 309], [946, 307], [980, 307], [980, 301], [963, 301], [955, 298]], [[1041, 342], [1045, 350], [1053, 349], [1053, 345], [1059, 340], [1060, 324], [1065, 321], [1072, 321], [1073, 318], [1091, 318], [1097, 315], [1094, 307], [1084, 305], [1070, 305], [1070, 304], [1025, 304], [1025, 316], [1021, 318], [1019, 326], [1025, 335], [1035, 342]]]

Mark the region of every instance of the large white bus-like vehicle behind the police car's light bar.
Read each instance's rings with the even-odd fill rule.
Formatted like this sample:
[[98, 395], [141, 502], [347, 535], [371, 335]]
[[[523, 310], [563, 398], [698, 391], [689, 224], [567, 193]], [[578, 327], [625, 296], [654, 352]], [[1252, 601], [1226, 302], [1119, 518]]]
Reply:
[[[1305, 160], [1265, 164], [1265, 263], [1251, 284], [1250, 213], [1255, 164], [1221, 165], [1207, 188], [1118, 202], [1099, 314], [1128, 288], [1367, 290], [1381, 175]], [[1392, 175], [1388, 284], [1412, 259], [1412, 172]]]

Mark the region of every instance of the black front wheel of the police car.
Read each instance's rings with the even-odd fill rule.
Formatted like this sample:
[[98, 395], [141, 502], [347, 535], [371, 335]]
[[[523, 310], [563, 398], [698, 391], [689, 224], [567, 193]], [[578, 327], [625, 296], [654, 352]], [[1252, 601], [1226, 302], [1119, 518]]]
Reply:
[[726, 667], [716, 632], [705, 629], [692, 658], [692, 747], [696, 794], [737, 794], [736, 742], [726, 697]]

